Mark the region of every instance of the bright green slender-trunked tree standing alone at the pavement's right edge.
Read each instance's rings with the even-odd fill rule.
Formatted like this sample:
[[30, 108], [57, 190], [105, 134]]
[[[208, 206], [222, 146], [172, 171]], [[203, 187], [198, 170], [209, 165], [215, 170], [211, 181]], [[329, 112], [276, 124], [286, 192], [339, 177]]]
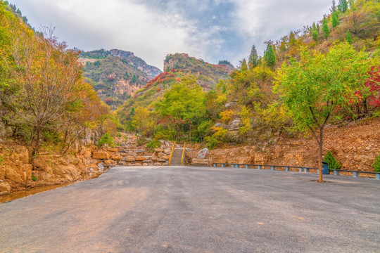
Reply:
[[379, 62], [347, 43], [336, 44], [325, 55], [303, 48], [300, 60], [284, 63], [277, 74], [275, 90], [294, 127], [311, 132], [319, 145], [320, 182], [324, 126], [336, 108], [346, 107], [356, 99], [355, 91], [363, 86], [375, 61]]

